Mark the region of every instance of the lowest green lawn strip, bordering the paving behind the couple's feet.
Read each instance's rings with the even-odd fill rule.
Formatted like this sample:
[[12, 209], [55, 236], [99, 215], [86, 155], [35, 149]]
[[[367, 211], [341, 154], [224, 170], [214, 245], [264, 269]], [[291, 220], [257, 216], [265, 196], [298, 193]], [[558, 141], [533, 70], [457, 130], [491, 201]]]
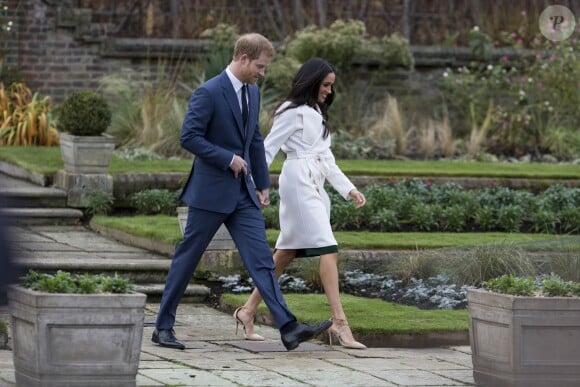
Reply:
[[[248, 294], [225, 293], [221, 296], [221, 302], [233, 308], [243, 305], [247, 298]], [[314, 323], [331, 316], [324, 294], [285, 293], [284, 299], [298, 321]], [[359, 334], [425, 334], [468, 330], [466, 309], [423, 310], [349, 294], [341, 294], [340, 299], [351, 329]], [[263, 302], [258, 313], [268, 313]]]

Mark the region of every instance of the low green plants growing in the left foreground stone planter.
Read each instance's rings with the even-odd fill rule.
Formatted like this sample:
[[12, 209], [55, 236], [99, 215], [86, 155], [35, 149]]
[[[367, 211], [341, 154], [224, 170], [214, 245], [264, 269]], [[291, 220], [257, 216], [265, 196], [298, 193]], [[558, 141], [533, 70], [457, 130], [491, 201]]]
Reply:
[[45, 293], [130, 293], [133, 284], [117, 273], [114, 276], [103, 274], [71, 274], [57, 271], [55, 274], [39, 273], [30, 270], [20, 279], [20, 285]]

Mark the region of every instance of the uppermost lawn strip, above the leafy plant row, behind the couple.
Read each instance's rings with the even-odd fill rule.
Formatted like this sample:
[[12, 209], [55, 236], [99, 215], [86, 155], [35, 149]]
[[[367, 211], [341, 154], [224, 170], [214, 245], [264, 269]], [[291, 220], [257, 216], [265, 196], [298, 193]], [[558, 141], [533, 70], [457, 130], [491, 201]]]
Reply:
[[[59, 147], [0, 147], [0, 160], [17, 165], [30, 172], [54, 175], [63, 168]], [[579, 179], [580, 168], [573, 164], [541, 163], [485, 163], [472, 161], [417, 161], [417, 160], [338, 160], [348, 176], [385, 177], [493, 177], [528, 179]], [[270, 168], [279, 173], [282, 161], [277, 159]], [[162, 173], [189, 172], [191, 160], [136, 160], [127, 161], [113, 156], [110, 172]]]

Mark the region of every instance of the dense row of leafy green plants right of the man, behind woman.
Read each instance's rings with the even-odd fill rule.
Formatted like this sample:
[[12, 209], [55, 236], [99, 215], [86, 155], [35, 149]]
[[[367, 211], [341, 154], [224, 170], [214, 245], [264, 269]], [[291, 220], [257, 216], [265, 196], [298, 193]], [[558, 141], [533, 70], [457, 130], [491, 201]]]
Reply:
[[[577, 234], [580, 188], [553, 185], [534, 194], [497, 185], [466, 190], [456, 183], [419, 179], [361, 189], [367, 205], [356, 209], [332, 188], [331, 221], [337, 231], [507, 231]], [[264, 209], [268, 228], [279, 228], [278, 195]]]

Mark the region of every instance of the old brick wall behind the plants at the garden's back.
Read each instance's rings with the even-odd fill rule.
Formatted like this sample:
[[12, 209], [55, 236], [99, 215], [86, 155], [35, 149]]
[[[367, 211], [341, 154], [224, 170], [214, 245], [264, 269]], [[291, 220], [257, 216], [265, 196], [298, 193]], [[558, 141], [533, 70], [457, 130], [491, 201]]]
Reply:
[[[51, 96], [55, 103], [74, 90], [98, 87], [103, 75], [124, 68], [146, 75], [148, 64], [156, 63], [158, 58], [194, 60], [204, 50], [203, 43], [192, 39], [107, 37], [106, 25], [91, 23], [90, 14], [64, 5], [71, 3], [71, 0], [0, 0], [0, 26], [13, 22], [10, 31], [0, 30], [0, 55], [5, 55], [5, 65], [17, 69], [33, 91]], [[417, 71], [402, 76], [421, 84], [422, 94], [429, 94], [426, 89], [435, 90], [429, 84], [445, 67], [474, 59], [467, 48], [412, 47], [412, 51]], [[509, 49], [494, 51], [496, 59], [504, 54], [513, 57], [522, 53]], [[389, 86], [398, 91], [396, 84]], [[400, 92], [408, 88], [405, 84]]]

